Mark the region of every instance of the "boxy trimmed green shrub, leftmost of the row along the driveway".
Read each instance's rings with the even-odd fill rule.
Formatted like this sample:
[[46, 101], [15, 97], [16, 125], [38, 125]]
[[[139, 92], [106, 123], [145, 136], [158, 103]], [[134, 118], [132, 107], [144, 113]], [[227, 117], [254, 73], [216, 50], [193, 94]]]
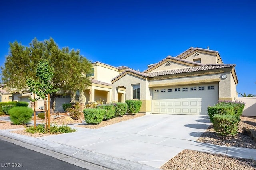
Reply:
[[106, 110], [104, 109], [84, 109], [84, 120], [88, 124], [99, 124], [102, 122]]

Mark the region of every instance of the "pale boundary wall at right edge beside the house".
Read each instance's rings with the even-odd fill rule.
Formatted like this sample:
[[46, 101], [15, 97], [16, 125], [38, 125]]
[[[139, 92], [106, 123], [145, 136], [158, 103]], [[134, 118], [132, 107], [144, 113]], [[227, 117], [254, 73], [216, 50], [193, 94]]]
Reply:
[[256, 116], [256, 97], [239, 97], [236, 101], [245, 103], [243, 116]]

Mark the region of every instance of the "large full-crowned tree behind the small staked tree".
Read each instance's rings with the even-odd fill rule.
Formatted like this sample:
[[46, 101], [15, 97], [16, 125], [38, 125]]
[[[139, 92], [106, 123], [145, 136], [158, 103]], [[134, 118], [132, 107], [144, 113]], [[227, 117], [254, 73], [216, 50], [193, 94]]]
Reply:
[[[54, 39], [38, 41], [34, 38], [29, 47], [15, 41], [10, 43], [10, 52], [2, 69], [2, 82], [8, 90], [27, 89], [26, 78], [36, 79], [36, 68], [40, 59], [46, 59], [54, 68], [53, 89], [84, 90], [90, 85], [85, 75], [90, 72], [91, 62], [80, 55], [80, 51], [68, 47], [60, 49]], [[50, 94], [52, 111], [56, 92]]]

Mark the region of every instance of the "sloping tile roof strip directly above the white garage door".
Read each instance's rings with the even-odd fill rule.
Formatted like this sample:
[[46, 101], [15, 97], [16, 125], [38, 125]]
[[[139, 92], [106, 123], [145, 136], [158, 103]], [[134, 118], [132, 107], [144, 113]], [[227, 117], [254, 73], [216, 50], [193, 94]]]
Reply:
[[196, 72], [196, 71], [204, 71], [204, 70], [214, 70], [218, 68], [228, 68], [228, 67], [234, 67], [235, 64], [206, 64], [202, 66], [194, 66], [189, 68], [181, 68], [181, 69], [175, 69], [175, 70], [163, 70], [159, 72], [146, 72], [148, 77], [154, 77], [154, 76], [164, 76], [164, 75], [170, 75], [170, 74], [179, 74], [179, 73], [186, 73], [186, 72]]

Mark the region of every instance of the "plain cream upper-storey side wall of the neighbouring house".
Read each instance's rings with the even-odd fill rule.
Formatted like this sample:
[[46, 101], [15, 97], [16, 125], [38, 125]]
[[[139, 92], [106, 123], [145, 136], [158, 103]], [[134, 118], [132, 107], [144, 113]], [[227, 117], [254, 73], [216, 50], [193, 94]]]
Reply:
[[118, 70], [112, 70], [103, 66], [94, 66], [95, 80], [111, 84], [111, 79], [119, 74]]

